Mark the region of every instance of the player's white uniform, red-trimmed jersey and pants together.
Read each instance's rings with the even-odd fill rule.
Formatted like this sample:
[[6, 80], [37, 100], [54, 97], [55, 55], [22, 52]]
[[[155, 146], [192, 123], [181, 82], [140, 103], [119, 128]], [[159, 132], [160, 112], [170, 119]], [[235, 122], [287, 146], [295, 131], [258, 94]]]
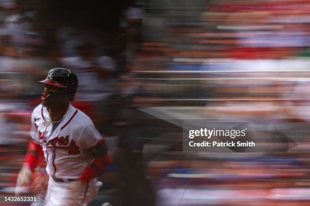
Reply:
[[80, 188], [78, 195], [71, 194], [68, 185], [81, 177], [92, 157], [87, 149], [102, 139], [92, 120], [80, 110], [69, 105], [58, 127], [52, 124], [46, 107], [38, 105], [31, 115], [30, 137], [42, 145], [49, 178], [45, 205], [87, 205], [102, 185], [97, 178]]

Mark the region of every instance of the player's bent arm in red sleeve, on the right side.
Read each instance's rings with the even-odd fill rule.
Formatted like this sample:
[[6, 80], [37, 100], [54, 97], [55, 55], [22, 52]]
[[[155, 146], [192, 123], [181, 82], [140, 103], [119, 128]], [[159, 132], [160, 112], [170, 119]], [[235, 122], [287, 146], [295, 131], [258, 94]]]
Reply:
[[102, 175], [108, 165], [111, 164], [107, 147], [103, 139], [99, 140], [94, 147], [88, 149], [92, 156], [91, 163], [84, 170], [80, 181], [89, 182], [95, 177]]

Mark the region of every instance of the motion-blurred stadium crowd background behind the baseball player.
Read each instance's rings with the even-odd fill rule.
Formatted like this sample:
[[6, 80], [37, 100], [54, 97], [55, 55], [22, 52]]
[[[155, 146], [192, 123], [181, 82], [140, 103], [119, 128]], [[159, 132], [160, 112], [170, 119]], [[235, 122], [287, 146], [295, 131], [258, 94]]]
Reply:
[[[310, 205], [309, 58], [309, 0], [1, 0], [0, 196], [64, 67], [113, 159], [90, 205]], [[183, 152], [197, 119], [251, 123], [257, 149]]]

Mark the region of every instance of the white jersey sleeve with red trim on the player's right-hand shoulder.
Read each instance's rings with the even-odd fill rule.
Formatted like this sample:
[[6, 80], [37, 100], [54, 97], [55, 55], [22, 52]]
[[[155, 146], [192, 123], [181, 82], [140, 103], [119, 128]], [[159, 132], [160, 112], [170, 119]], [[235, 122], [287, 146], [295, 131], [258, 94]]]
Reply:
[[96, 146], [97, 142], [102, 139], [100, 133], [94, 124], [87, 125], [80, 134], [79, 144], [83, 149], [89, 149]]

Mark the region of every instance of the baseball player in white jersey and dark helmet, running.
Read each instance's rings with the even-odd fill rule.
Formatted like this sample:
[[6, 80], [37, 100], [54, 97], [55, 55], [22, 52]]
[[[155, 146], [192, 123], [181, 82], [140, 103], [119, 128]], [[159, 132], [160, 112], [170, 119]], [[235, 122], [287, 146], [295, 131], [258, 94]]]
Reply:
[[78, 78], [70, 70], [49, 71], [42, 104], [31, 115], [31, 140], [19, 172], [18, 186], [31, 183], [40, 153], [49, 175], [44, 205], [87, 205], [102, 185], [97, 180], [110, 164], [106, 145], [92, 120], [75, 109]]

